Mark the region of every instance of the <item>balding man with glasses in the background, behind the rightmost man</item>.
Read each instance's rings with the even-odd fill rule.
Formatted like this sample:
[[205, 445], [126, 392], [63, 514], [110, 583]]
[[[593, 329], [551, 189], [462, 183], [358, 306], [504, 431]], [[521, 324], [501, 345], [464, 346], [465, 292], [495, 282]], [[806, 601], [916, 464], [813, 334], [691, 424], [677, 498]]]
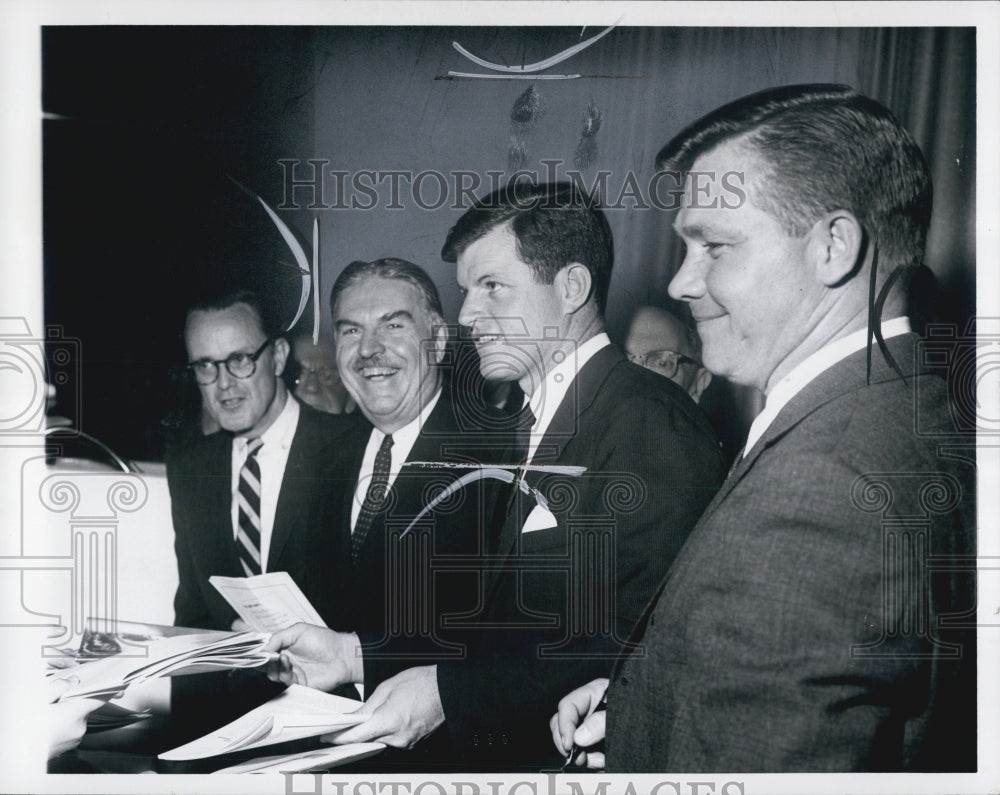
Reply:
[[669, 378], [695, 403], [712, 380], [701, 363], [697, 335], [666, 309], [639, 307], [624, 347], [630, 362]]

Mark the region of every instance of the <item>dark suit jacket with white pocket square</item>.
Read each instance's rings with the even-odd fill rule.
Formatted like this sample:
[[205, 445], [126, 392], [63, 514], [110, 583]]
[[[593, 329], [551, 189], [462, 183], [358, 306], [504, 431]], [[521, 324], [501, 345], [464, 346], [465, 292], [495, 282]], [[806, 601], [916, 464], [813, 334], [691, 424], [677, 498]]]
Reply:
[[646, 602], [719, 486], [722, 458], [684, 390], [614, 346], [577, 375], [529, 474], [556, 526], [521, 532], [535, 505], [517, 490], [469, 657], [438, 665], [449, 734], [470, 759], [552, 753], [560, 698], [607, 676]]

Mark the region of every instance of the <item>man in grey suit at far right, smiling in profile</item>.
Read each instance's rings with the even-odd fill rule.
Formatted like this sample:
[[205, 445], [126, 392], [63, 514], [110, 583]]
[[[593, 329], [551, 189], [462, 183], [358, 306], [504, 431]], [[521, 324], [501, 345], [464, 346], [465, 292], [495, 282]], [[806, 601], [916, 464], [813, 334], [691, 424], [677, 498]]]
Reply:
[[[670, 294], [705, 366], [767, 402], [637, 629], [645, 655], [615, 666], [606, 751], [577, 761], [975, 770], [974, 454], [906, 318], [923, 155], [883, 106], [814, 85], [720, 108], [658, 162], [689, 172]], [[562, 752], [603, 736], [607, 684], [561, 702]]]

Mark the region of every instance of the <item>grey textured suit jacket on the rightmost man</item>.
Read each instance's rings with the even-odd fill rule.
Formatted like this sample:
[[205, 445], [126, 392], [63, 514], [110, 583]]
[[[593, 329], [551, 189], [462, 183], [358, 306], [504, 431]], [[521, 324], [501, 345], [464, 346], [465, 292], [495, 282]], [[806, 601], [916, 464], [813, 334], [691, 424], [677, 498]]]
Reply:
[[914, 342], [905, 381], [854, 354], [737, 463], [615, 667], [609, 770], [975, 769], [974, 468]]

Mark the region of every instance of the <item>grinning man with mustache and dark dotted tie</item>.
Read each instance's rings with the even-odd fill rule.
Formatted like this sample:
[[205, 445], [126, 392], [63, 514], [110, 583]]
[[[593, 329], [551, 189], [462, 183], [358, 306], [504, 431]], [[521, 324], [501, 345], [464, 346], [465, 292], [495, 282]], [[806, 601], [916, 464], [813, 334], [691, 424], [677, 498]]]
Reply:
[[[286, 681], [371, 694], [418, 662], [464, 654], [461, 616], [479, 604], [475, 567], [495, 544], [497, 481], [435, 498], [480, 462], [499, 461], [510, 442], [505, 432], [477, 433], [452, 402], [441, 367], [447, 329], [423, 269], [394, 258], [352, 262], [330, 306], [337, 367], [368, 420], [341, 440], [324, 478], [330, 492], [317, 523], [334, 539], [333, 629], [299, 624], [272, 644], [292, 645]], [[426, 744], [424, 758], [437, 747]]]

